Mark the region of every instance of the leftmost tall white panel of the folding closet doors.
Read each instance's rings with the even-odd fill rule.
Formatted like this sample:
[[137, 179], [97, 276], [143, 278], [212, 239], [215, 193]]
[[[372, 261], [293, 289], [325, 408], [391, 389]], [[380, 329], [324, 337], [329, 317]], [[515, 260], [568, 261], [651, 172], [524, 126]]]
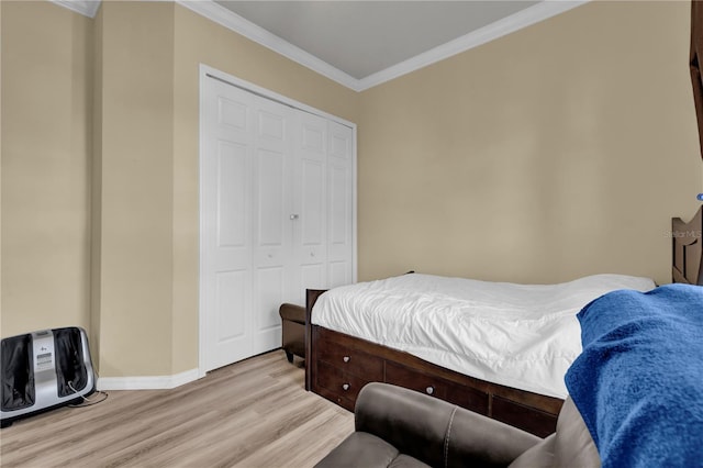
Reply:
[[204, 370], [250, 348], [254, 97], [209, 79], [201, 155], [201, 307]]

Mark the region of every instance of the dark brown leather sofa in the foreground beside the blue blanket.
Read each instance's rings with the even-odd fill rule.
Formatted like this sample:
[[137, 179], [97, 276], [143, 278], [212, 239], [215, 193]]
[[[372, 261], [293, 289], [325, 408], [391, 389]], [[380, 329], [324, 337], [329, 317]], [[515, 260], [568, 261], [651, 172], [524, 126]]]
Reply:
[[316, 467], [599, 467], [593, 439], [570, 399], [555, 434], [539, 438], [445, 401], [369, 383], [356, 431]]

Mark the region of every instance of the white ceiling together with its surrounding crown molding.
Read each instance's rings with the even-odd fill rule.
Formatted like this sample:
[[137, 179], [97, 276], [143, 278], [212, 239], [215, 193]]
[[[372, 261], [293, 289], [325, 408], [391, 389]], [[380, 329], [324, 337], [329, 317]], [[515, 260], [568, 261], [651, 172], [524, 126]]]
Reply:
[[[90, 16], [100, 4], [52, 1]], [[588, 0], [175, 1], [361, 91]]]

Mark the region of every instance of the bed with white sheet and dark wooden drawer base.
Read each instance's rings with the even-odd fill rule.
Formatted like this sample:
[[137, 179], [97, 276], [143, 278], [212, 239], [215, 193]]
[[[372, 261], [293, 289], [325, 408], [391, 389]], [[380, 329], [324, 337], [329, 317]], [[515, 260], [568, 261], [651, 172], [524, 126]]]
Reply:
[[655, 287], [624, 275], [514, 285], [408, 274], [308, 290], [305, 387], [353, 410], [364, 385], [394, 383], [545, 436], [581, 352], [576, 314], [605, 292]]

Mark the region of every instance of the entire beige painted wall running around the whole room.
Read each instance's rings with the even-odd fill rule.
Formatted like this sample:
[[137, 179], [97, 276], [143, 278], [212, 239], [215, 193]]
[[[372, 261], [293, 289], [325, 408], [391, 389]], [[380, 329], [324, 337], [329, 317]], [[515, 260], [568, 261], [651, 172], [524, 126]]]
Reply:
[[666, 282], [703, 185], [688, 8], [590, 3], [356, 93], [171, 2], [2, 1], [2, 336], [198, 366], [200, 63], [359, 125], [361, 280]]

